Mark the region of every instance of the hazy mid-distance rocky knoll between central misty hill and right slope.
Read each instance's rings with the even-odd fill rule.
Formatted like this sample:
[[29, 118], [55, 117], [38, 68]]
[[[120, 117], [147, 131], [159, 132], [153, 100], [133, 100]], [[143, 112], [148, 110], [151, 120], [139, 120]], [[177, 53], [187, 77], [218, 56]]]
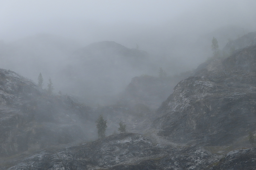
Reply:
[[175, 85], [180, 80], [193, 75], [192, 72], [184, 72], [179, 75], [160, 78], [142, 75], [132, 78], [131, 83], [120, 95], [119, 102], [126, 104], [144, 104], [152, 109], [157, 109], [167, 99]]

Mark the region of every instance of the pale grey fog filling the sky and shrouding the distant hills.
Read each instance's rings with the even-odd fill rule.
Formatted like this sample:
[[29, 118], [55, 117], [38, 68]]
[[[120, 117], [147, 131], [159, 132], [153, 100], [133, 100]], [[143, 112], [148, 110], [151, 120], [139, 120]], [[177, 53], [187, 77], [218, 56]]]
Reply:
[[[254, 0], [4, 1], [0, 67], [36, 83], [41, 72], [44, 88], [51, 77], [56, 93], [109, 104], [135, 76], [157, 76], [160, 67], [168, 76], [196, 69], [212, 56], [213, 36], [222, 49], [256, 31], [255, 6]], [[126, 48], [90, 45], [101, 41]], [[137, 58], [124, 59], [121, 49]]]

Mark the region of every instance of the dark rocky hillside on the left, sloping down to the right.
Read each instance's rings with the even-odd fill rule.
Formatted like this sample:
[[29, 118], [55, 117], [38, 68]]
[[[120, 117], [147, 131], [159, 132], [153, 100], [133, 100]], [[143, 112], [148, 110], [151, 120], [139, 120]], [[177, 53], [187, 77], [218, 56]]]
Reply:
[[0, 96], [0, 157], [86, 139], [84, 124], [92, 110], [69, 96], [48, 95], [4, 69]]

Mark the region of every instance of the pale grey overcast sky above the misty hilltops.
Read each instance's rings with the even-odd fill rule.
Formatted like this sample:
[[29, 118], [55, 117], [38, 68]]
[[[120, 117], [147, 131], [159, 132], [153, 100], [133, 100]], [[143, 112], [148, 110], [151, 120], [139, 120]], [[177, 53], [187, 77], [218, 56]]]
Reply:
[[207, 33], [226, 25], [253, 30], [255, 7], [255, 0], [2, 0], [0, 39], [52, 33], [85, 44], [122, 43], [141, 33]]

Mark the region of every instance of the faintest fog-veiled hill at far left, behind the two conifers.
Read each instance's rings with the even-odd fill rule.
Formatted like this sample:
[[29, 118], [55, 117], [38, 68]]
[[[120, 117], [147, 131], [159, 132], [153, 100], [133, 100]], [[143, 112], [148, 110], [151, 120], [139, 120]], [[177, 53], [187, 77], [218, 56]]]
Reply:
[[52, 34], [36, 34], [12, 43], [2, 43], [1, 68], [13, 70], [37, 82], [40, 72], [45, 80], [67, 64], [72, 52], [81, 47], [73, 40]]

